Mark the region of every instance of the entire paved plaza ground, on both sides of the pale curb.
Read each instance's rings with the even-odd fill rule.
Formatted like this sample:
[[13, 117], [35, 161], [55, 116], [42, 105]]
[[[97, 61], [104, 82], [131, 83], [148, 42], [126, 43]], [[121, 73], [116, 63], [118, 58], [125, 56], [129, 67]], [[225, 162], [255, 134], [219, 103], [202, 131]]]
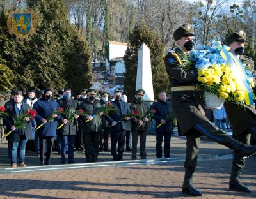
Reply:
[[[6, 143], [2, 143], [0, 198], [189, 198], [181, 192], [185, 145], [185, 137], [173, 136], [171, 158], [154, 159], [156, 136], [148, 135], [147, 161], [131, 161], [131, 152], [125, 152], [124, 161], [106, 163], [112, 161], [110, 152], [100, 152], [98, 163], [85, 163], [84, 154], [76, 151], [78, 164], [74, 165], [58, 165], [60, 155], [54, 152], [51, 166], [38, 166], [39, 158], [29, 152], [26, 164], [30, 171], [23, 172], [10, 169]], [[228, 190], [231, 152], [202, 138], [194, 178], [195, 187], [204, 193], [202, 198], [256, 198], [255, 156], [247, 159], [241, 175], [252, 193]]]

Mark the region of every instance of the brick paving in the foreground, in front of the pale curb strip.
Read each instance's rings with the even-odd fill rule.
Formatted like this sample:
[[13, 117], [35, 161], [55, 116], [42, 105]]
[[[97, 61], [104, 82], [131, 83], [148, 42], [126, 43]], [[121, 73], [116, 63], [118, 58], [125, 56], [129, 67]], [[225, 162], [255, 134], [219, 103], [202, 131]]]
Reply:
[[[247, 160], [241, 180], [252, 193], [228, 190], [231, 159], [199, 161], [195, 186], [202, 198], [256, 198], [255, 164]], [[3, 174], [0, 198], [190, 198], [183, 177], [183, 162]]]

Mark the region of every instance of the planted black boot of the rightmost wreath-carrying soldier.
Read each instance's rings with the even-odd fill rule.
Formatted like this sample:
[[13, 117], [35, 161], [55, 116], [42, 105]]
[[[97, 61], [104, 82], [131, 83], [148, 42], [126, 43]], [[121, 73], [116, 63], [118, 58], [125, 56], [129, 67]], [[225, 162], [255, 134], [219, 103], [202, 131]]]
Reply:
[[230, 181], [229, 181], [229, 189], [232, 191], [241, 191], [241, 192], [249, 193], [251, 191], [250, 188], [246, 187], [243, 183], [239, 182], [241, 171], [242, 171], [242, 168], [239, 168], [236, 165], [232, 166], [232, 171], [231, 171]]

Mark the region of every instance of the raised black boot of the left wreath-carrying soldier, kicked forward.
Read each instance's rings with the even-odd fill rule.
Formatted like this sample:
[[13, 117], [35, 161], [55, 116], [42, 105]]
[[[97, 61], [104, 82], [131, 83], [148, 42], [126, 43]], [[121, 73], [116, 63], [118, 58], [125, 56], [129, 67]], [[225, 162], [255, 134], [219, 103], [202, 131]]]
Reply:
[[229, 149], [233, 149], [237, 156], [241, 158], [248, 158], [256, 154], [256, 146], [251, 146], [238, 142], [237, 140], [230, 138], [230, 136], [222, 136], [223, 140], [220, 144], [225, 145]]

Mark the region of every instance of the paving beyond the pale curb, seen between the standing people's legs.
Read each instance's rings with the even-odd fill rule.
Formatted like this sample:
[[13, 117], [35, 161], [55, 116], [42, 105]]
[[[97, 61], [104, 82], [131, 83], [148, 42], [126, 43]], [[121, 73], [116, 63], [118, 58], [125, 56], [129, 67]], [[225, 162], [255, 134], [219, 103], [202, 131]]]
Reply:
[[[164, 145], [164, 144], [163, 144]], [[146, 144], [147, 158], [156, 158], [156, 135], [147, 136]], [[110, 147], [110, 143], [109, 143]], [[216, 144], [207, 138], [202, 137], [200, 144], [200, 156], [218, 155], [218, 154], [230, 154], [232, 151], [224, 147], [223, 145]], [[171, 140], [171, 158], [184, 157], [186, 154], [186, 137], [184, 136], [172, 136]], [[0, 168], [10, 168], [10, 158], [8, 158], [7, 142], [0, 143]], [[67, 155], [68, 156], [68, 155]], [[138, 159], [140, 159], [140, 145], [138, 144]], [[164, 154], [163, 154], [164, 158]], [[110, 152], [99, 152], [98, 162], [112, 161], [113, 157]], [[131, 160], [131, 152], [124, 152], [124, 160]], [[74, 160], [76, 163], [85, 163], [86, 159], [81, 151], [76, 151], [74, 154]], [[58, 165], [61, 163], [61, 156], [57, 151], [53, 151], [51, 158], [51, 165]], [[40, 165], [39, 157], [35, 152], [26, 152], [26, 165], [38, 166]]]

